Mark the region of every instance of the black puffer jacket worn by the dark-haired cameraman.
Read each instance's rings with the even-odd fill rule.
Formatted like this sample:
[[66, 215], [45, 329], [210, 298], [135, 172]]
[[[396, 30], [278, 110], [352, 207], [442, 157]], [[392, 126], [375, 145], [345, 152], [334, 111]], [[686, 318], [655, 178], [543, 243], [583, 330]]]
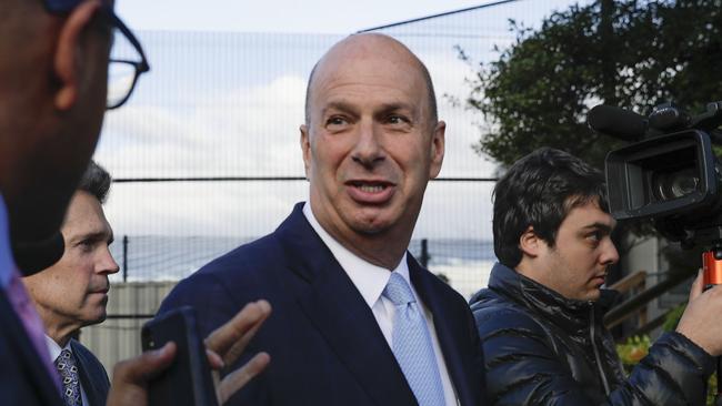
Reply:
[[494, 405], [703, 405], [714, 358], [663, 335], [629, 378], [602, 326], [604, 302], [570, 301], [497, 264], [471, 300]]

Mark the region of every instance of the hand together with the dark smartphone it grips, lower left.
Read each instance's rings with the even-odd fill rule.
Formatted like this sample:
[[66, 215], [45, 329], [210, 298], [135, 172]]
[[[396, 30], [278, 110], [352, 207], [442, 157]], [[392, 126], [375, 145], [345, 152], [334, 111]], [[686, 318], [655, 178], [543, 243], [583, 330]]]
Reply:
[[[180, 313], [180, 314], [178, 314]], [[211, 405], [223, 404], [235, 392], [240, 390], [250, 379], [263, 372], [270, 362], [267, 353], [258, 353], [238, 369], [229, 373], [222, 380], [213, 385], [201, 384], [203, 389], [187, 386], [188, 382], [202, 383], [204, 376], [211, 374], [209, 367], [220, 369], [231, 365], [244, 353], [248, 343], [271, 314], [271, 306], [260, 300], [247, 304], [233, 318], [218, 327], [203, 342], [200, 341], [195, 315], [191, 307], [177, 309], [157, 317], [143, 326], [143, 349], [163, 348], [162, 352], [147, 352], [142, 355], [120, 362], [113, 371], [113, 382], [108, 396], [109, 406], [144, 406], [144, 405], [205, 405], [193, 403], [194, 393], [211, 396], [217, 399]], [[146, 333], [147, 331], [147, 333]], [[190, 337], [190, 339], [187, 339]], [[163, 347], [164, 343], [173, 342], [172, 351]], [[200, 343], [200, 349], [198, 344]], [[199, 361], [205, 358], [209, 351], [213, 354], [208, 367], [199, 367]], [[177, 363], [176, 357], [184, 353], [187, 362]], [[194, 354], [191, 362], [191, 355]], [[202, 355], [202, 356], [199, 356]], [[193, 365], [188, 365], [189, 363]], [[167, 371], [171, 371], [168, 375]], [[172, 372], [174, 371], [174, 373]], [[218, 374], [218, 372], [213, 372]], [[182, 382], [184, 384], [179, 384]], [[209, 387], [210, 386], [210, 387]], [[152, 393], [152, 395], [151, 395]], [[214, 397], [213, 397], [214, 396]], [[207, 402], [207, 400], [198, 400]], [[207, 403], [208, 404], [208, 403]]]

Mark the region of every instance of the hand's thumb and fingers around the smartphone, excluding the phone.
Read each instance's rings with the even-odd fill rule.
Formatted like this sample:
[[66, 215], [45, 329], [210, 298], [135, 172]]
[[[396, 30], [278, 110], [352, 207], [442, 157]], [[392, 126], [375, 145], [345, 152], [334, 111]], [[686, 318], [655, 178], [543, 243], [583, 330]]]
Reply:
[[[225, 403], [269, 364], [270, 356], [259, 353], [222, 380], [218, 373], [224, 365], [231, 365], [238, 359], [270, 314], [271, 305], [267, 301], [249, 303], [205, 338], [219, 404]], [[176, 356], [176, 349], [174, 343], [168, 343], [159, 349], [116, 364], [107, 405], [148, 405], [148, 383], [168, 368]]]

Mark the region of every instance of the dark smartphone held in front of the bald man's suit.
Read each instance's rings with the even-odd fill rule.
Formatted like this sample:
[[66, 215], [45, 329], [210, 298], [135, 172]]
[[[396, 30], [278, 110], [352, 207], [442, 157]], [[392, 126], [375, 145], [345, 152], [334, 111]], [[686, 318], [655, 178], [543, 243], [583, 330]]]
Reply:
[[213, 377], [195, 322], [195, 311], [183, 306], [143, 325], [143, 351], [177, 346], [168, 369], [149, 383], [149, 404], [153, 406], [218, 406]]

